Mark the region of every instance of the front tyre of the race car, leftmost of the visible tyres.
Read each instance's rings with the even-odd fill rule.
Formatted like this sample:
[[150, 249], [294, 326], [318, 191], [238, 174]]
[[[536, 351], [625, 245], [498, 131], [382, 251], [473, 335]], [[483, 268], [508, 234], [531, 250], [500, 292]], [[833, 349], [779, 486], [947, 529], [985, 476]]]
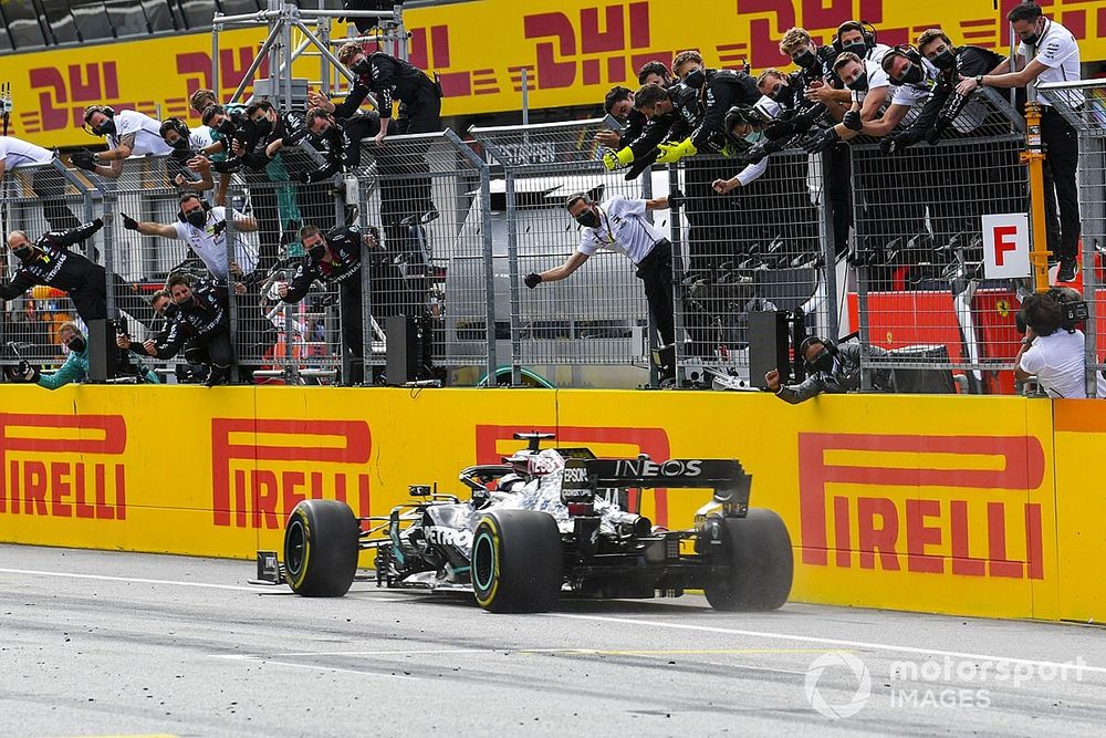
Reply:
[[305, 597], [341, 597], [357, 573], [361, 524], [337, 500], [303, 500], [284, 527], [289, 586]]

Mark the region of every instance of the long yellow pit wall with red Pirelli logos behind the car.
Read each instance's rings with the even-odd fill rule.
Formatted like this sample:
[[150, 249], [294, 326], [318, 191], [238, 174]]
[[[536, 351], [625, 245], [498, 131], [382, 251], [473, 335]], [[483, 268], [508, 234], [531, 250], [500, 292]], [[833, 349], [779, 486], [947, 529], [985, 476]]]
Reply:
[[[301, 499], [379, 516], [410, 484], [460, 493], [460, 468], [539, 429], [601, 456], [741, 459], [791, 531], [794, 600], [1106, 620], [1095, 401], [7, 386], [0, 407], [7, 542], [252, 558]], [[643, 512], [686, 527], [708, 498], [646, 491]]]

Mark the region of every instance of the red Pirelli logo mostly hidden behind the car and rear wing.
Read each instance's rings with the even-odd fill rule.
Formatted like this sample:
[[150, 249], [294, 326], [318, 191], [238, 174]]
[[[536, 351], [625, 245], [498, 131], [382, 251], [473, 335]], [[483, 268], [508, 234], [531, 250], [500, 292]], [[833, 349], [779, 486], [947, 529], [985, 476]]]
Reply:
[[[664, 428], [615, 428], [606, 426], [534, 426], [534, 425], [477, 425], [477, 464], [501, 464], [504, 456], [525, 445], [513, 439], [517, 433], [552, 433], [556, 439], [546, 443], [553, 448], [586, 446], [596, 456], [604, 456], [604, 447], [612, 451], [609, 456], [634, 457], [648, 454], [656, 460], [667, 460], [669, 451], [668, 434]], [[639, 490], [634, 490], [630, 507], [638, 505]], [[659, 526], [668, 524], [668, 490], [653, 490], [656, 503], [656, 520]]]

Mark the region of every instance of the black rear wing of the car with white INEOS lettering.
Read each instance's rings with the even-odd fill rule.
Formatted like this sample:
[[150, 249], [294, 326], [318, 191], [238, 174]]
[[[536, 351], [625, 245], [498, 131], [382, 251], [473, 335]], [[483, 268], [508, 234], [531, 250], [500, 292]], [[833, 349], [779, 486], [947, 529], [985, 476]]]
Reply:
[[710, 489], [716, 502], [744, 514], [752, 481], [737, 459], [567, 459], [562, 488]]

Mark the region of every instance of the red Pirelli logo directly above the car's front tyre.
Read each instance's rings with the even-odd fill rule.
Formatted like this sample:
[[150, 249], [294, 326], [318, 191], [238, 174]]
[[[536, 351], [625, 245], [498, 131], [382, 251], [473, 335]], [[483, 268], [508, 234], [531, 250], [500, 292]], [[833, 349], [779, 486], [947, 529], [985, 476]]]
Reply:
[[309, 498], [342, 500], [367, 516], [371, 449], [364, 420], [213, 418], [215, 524], [279, 530]]

